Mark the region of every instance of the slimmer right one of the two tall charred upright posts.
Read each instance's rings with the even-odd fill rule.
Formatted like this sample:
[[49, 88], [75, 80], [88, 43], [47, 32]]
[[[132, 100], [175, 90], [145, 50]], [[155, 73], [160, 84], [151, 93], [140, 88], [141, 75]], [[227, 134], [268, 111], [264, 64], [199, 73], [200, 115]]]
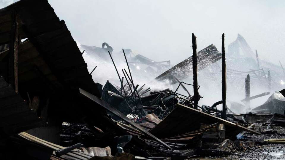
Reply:
[[226, 105], [226, 93], [227, 93], [227, 70], [226, 70], [226, 55], [225, 55], [225, 33], [222, 35], [222, 99], [223, 99], [223, 111], [221, 117], [227, 119], [227, 105]]

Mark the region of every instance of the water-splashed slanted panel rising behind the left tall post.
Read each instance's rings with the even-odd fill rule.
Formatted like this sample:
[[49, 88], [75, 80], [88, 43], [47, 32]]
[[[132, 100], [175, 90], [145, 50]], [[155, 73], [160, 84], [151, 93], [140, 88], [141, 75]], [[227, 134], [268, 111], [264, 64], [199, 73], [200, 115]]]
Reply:
[[[221, 53], [217, 50], [217, 48], [211, 44], [210, 46], [202, 49], [197, 53], [197, 67], [198, 71], [206, 68], [212, 63], [215, 63], [221, 59]], [[158, 77], [156, 77], [159, 81], [169, 80], [171, 84], [177, 83], [174, 77], [177, 79], [185, 79], [189, 77], [193, 73], [192, 71], [192, 56], [178, 63], [174, 67], [165, 71]]]

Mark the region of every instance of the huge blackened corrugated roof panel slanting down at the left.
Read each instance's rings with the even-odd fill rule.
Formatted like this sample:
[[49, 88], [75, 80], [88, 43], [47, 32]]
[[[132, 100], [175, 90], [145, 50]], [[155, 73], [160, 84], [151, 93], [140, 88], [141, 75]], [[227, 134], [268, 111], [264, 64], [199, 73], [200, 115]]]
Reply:
[[[6, 23], [12, 24], [9, 17], [14, 9], [18, 15], [19, 36], [21, 39], [29, 37], [29, 43], [33, 45], [33, 48], [23, 53], [22, 51], [25, 49], [21, 49], [21, 45], [23, 46], [24, 43], [19, 47], [19, 65], [23, 65], [19, 66], [19, 79], [22, 79], [20, 83], [27, 84], [34, 79], [31, 77], [34, 76], [33, 73], [27, 71], [35, 65], [50, 80], [50, 73], [47, 73], [46, 70], [48, 68], [66, 89], [81, 87], [99, 96], [100, 93], [87, 70], [87, 64], [76, 42], [64, 21], [59, 20], [50, 4], [46, 0], [18, 1], [0, 10], [1, 22], [3, 21], [0, 26], [5, 26]], [[25, 35], [20, 34], [22, 30]], [[0, 35], [8, 35], [6, 39], [1, 39], [4, 44], [10, 41], [9, 33], [8, 30], [0, 33]], [[28, 61], [32, 57], [34, 59]], [[23, 78], [24, 73], [27, 73], [26, 78]]]

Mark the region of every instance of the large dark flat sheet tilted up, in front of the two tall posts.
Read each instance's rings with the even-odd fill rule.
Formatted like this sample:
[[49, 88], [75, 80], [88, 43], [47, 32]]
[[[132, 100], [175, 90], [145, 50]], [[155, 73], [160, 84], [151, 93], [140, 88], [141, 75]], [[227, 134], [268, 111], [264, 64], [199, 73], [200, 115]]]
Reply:
[[226, 126], [226, 136], [235, 136], [242, 130], [253, 134], [260, 134], [254, 130], [243, 127], [208, 113], [177, 104], [176, 108], [166, 116], [156, 127], [150, 130], [151, 134], [159, 138], [173, 137], [200, 129], [200, 124], [223, 123]]

